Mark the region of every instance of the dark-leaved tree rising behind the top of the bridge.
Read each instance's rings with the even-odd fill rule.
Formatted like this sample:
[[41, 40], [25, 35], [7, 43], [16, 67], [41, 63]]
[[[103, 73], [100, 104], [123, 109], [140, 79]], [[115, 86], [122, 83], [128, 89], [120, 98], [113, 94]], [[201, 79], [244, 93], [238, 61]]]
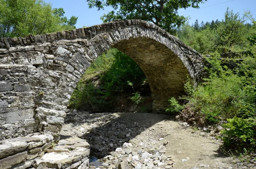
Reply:
[[98, 10], [105, 6], [113, 11], [103, 15], [104, 22], [115, 19], [141, 19], [152, 22], [168, 32], [173, 32], [185, 23], [186, 18], [178, 15], [181, 8], [199, 8], [198, 4], [206, 0], [86, 0], [89, 8]]

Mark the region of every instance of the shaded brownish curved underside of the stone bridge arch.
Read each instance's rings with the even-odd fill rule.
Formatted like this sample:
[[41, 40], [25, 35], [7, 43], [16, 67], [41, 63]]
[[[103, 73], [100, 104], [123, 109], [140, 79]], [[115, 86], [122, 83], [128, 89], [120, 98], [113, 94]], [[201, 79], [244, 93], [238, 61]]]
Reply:
[[150, 38], [122, 40], [115, 48], [128, 54], [143, 70], [151, 89], [153, 112], [165, 112], [169, 97], [184, 94], [189, 72], [177, 55], [165, 45]]

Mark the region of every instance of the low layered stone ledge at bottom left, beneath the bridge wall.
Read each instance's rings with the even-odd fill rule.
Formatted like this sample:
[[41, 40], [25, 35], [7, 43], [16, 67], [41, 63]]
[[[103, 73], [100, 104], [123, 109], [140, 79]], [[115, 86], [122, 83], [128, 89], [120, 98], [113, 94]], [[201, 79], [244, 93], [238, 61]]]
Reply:
[[87, 169], [90, 145], [71, 137], [56, 145], [52, 135], [31, 134], [0, 141], [0, 169]]

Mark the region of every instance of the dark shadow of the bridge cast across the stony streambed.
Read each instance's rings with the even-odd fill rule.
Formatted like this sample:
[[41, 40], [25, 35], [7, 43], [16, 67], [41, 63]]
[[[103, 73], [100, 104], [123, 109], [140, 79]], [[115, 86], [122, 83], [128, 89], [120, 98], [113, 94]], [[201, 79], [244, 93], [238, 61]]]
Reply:
[[[68, 112], [65, 123], [73, 127], [73, 133], [78, 137], [87, 140], [92, 154], [102, 158], [164, 120], [174, 120], [174, 118], [169, 115], [139, 112], [94, 114]], [[84, 130], [81, 131], [83, 128]], [[156, 137], [164, 136], [159, 133]]]

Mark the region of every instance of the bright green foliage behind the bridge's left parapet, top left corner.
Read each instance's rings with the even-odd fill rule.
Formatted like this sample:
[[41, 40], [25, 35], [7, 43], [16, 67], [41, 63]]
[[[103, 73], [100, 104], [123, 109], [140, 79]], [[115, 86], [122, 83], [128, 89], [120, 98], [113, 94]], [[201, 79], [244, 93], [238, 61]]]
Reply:
[[77, 17], [71, 17], [65, 23], [63, 14], [63, 9], [52, 9], [43, 0], [0, 0], [0, 37], [25, 37], [74, 29]]

